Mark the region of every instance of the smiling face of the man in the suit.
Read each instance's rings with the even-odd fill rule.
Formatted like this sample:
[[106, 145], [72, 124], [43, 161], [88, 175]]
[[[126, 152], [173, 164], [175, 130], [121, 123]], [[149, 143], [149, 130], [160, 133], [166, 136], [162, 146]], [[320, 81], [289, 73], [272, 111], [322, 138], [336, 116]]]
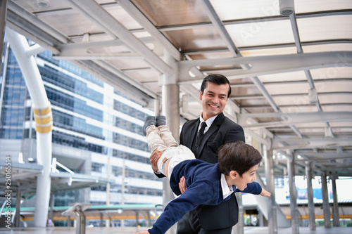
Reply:
[[227, 104], [228, 84], [214, 84], [208, 82], [206, 89], [200, 94], [199, 99], [203, 106], [201, 117], [206, 120], [215, 115], [219, 115]]

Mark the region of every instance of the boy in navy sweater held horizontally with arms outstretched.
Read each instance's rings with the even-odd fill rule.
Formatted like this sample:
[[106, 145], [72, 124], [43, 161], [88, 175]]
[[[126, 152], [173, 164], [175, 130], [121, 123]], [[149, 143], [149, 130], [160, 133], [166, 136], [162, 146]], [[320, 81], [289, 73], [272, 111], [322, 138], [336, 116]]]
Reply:
[[[172, 192], [178, 197], [168, 203], [153, 228], [137, 234], [165, 233], [186, 212], [200, 204], [220, 204], [235, 192], [270, 197], [268, 191], [254, 182], [262, 157], [251, 145], [243, 141], [222, 145], [218, 151], [218, 163], [210, 164], [196, 160], [189, 148], [177, 145], [165, 126], [165, 117], [146, 117], [143, 130], [149, 150], [161, 151], [158, 170], [169, 178]], [[183, 177], [187, 186], [184, 193], [178, 184]]]

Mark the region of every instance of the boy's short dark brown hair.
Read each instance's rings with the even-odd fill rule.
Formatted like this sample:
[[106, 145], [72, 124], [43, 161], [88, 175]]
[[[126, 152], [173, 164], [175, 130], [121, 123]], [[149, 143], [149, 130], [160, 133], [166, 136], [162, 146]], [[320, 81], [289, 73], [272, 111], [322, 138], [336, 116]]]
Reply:
[[244, 172], [260, 164], [262, 159], [258, 150], [243, 141], [227, 143], [220, 146], [218, 151], [220, 172], [225, 175], [228, 175], [230, 171], [237, 171], [242, 177]]

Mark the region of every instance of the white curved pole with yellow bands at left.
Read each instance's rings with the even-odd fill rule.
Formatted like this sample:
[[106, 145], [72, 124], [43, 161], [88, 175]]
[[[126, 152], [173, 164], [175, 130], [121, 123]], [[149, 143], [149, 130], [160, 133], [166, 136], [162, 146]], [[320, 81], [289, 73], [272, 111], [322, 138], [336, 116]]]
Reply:
[[44, 89], [34, 57], [27, 53], [30, 46], [22, 35], [6, 27], [6, 38], [20, 65], [27, 85], [34, 111], [35, 129], [37, 131], [37, 162], [43, 166], [42, 174], [37, 176], [34, 226], [45, 227], [48, 217], [51, 188], [51, 131], [52, 115], [48, 97]]

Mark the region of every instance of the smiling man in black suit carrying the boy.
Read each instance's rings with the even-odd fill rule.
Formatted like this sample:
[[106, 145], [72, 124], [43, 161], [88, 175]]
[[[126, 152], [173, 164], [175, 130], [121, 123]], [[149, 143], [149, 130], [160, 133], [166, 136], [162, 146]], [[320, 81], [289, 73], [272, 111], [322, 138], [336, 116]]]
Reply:
[[[230, 82], [222, 74], [210, 74], [203, 79], [199, 96], [203, 112], [199, 118], [186, 122], [180, 134], [180, 144], [190, 148], [199, 160], [217, 163], [221, 145], [245, 141], [242, 127], [222, 113], [230, 94]], [[205, 128], [201, 127], [203, 122], [206, 123]], [[152, 154], [152, 165], [155, 160], [156, 154]], [[156, 167], [152, 167], [156, 171]], [[236, 196], [233, 196], [218, 206], [203, 205], [185, 214], [177, 223], [177, 234], [230, 234], [237, 221], [238, 204]]]

